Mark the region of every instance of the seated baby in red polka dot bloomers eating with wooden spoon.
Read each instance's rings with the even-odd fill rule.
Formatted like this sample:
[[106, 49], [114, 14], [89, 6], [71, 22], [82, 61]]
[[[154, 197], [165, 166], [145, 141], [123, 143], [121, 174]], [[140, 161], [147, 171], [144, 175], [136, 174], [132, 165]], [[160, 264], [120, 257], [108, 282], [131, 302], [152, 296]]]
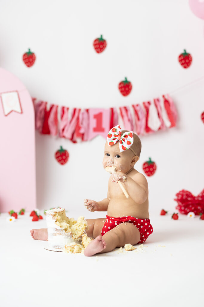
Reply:
[[[140, 139], [132, 131], [121, 131], [119, 125], [109, 131], [103, 167], [114, 166], [117, 169], [109, 178], [107, 198], [98, 202], [84, 200], [85, 207], [91, 212], [107, 211], [106, 219], [87, 220], [86, 233], [95, 239], [84, 250], [85, 256], [113, 251], [126, 243], [143, 243], [153, 232], [148, 212], [147, 180], [134, 169], [140, 151]], [[119, 180], [128, 192], [128, 198], [118, 184]], [[32, 229], [31, 236], [47, 240], [47, 230]]]

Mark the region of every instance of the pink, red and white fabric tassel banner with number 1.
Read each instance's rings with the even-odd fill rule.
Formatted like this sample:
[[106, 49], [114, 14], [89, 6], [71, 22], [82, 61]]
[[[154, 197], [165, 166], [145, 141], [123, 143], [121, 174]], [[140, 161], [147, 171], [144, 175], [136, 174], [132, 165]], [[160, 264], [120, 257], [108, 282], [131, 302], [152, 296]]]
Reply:
[[36, 98], [33, 104], [36, 130], [74, 143], [89, 141], [97, 135], [106, 138], [110, 128], [118, 123], [125, 130], [145, 135], [175, 127], [177, 122], [176, 107], [168, 94], [141, 104], [109, 109], [48, 106]]

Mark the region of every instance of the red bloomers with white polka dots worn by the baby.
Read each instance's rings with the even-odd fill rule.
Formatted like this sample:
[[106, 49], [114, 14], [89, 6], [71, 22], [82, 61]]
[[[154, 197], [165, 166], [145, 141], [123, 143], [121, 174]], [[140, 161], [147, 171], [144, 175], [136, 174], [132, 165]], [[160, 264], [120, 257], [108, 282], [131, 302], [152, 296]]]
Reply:
[[103, 225], [101, 235], [105, 235], [107, 231], [113, 229], [121, 223], [132, 223], [135, 225], [135, 227], [137, 227], [140, 232], [140, 240], [138, 244], [144, 243], [148, 236], [153, 232], [150, 219], [137, 219], [133, 216], [111, 217], [106, 215], [106, 222]]

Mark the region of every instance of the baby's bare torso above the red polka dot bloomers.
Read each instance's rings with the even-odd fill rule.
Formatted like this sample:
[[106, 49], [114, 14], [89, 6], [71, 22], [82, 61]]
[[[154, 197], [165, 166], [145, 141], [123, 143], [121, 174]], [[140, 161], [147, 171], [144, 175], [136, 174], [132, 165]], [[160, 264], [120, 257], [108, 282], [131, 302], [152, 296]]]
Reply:
[[[137, 182], [138, 173], [135, 169], [133, 172], [129, 173], [128, 176], [131, 177], [135, 182]], [[112, 177], [112, 176], [111, 176]], [[128, 181], [124, 184], [127, 186], [127, 190], [130, 190], [128, 186]], [[137, 193], [137, 191], [131, 191]], [[148, 197], [143, 202], [143, 204], [136, 203], [131, 197], [126, 198], [123, 191], [121, 190], [118, 183], [112, 182], [111, 178], [108, 184], [108, 197], [110, 199], [107, 214], [108, 216], [121, 217], [121, 216], [133, 216], [139, 219], [149, 218], [149, 201]]]

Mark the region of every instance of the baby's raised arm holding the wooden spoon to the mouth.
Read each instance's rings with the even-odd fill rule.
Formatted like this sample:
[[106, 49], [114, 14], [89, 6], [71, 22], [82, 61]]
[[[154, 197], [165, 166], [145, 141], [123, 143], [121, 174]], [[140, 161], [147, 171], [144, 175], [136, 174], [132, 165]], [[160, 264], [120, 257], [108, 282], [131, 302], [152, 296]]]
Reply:
[[124, 181], [124, 185], [130, 197], [137, 204], [143, 204], [148, 197], [148, 184], [147, 179], [141, 173], [137, 173], [131, 178], [122, 172], [113, 173], [113, 181], [117, 182], [119, 178], [121, 182], [123, 182], [123, 177], [127, 177], [126, 181]]

